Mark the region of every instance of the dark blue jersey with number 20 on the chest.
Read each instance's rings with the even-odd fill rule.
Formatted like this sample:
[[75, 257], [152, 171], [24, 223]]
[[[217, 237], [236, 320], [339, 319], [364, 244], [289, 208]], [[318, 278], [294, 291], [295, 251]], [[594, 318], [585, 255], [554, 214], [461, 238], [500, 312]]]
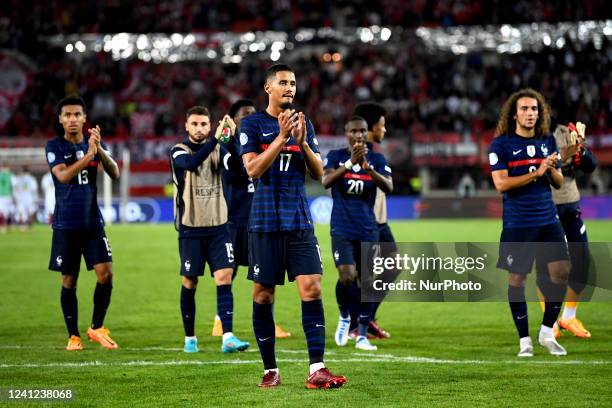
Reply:
[[[326, 169], [344, 166], [351, 153], [348, 148], [331, 150], [323, 162]], [[391, 168], [385, 157], [372, 150], [366, 159], [370, 166], [383, 176], [391, 175]], [[333, 207], [331, 214], [331, 235], [360, 241], [375, 241], [378, 227], [374, 215], [376, 184], [359, 164], [344, 174], [332, 185]]]

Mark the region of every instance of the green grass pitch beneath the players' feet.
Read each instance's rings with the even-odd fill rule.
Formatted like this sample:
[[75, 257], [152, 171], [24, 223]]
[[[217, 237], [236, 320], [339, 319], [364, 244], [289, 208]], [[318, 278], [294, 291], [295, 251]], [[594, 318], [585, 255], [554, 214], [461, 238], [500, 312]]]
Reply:
[[[499, 220], [417, 220], [391, 224], [397, 241], [499, 239]], [[587, 222], [591, 241], [612, 241], [612, 222]], [[209, 276], [197, 293], [200, 353], [182, 353], [178, 250], [172, 225], [114, 225], [107, 234], [114, 257], [114, 291], [106, 324], [118, 350], [85, 342], [67, 352], [59, 304], [60, 275], [47, 270], [51, 231], [0, 236], [0, 389], [70, 388], [71, 406], [610, 406], [612, 304], [585, 303], [579, 317], [593, 333], [565, 334], [569, 355], [555, 358], [536, 346], [519, 360], [518, 339], [506, 303], [384, 303], [380, 324], [392, 333], [377, 352], [333, 341], [337, 277], [329, 229], [317, 226], [324, 259], [326, 362], [348, 377], [337, 390], [306, 390], [308, 370], [300, 302], [294, 284], [277, 290], [276, 321], [291, 331], [277, 340], [283, 384], [256, 387], [262, 365], [251, 325], [251, 284], [239, 270], [234, 284], [235, 333], [251, 342], [244, 353], [224, 355], [209, 336], [215, 309]], [[208, 272], [207, 272], [208, 273]], [[503, 273], [503, 272], [500, 272]], [[612, 270], [609, 271], [612, 273]], [[91, 319], [93, 272], [81, 271], [79, 326]], [[532, 338], [541, 312], [530, 304]], [[6, 393], [6, 390], [2, 392]], [[3, 399], [4, 398], [4, 399]], [[0, 395], [0, 404], [6, 403]], [[40, 406], [40, 402], [20, 406]], [[53, 402], [53, 405], [63, 405]]]

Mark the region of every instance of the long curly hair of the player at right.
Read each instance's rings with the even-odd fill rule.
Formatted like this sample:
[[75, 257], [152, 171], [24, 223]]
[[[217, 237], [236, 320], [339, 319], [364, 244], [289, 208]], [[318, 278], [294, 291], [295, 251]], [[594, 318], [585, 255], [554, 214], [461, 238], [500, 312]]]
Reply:
[[535, 136], [542, 137], [550, 132], [550, 108], [544, 96], [538, 91], [525, 88], [510, 95], [502, 106], [495, 137], [516, 131], [516, 102], [521, 98], [533, 98], [538, 101], [538, 120], [535, 124]]

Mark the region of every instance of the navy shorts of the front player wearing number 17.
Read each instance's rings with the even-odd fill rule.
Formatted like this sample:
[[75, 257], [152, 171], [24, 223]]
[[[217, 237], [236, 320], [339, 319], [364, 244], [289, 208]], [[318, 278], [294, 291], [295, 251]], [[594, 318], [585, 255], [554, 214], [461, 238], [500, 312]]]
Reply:
[[323, 274], [321, 247], [312, 230], [249, 232], [247, 278], [265, 286], [283, 285], [299, 275]]

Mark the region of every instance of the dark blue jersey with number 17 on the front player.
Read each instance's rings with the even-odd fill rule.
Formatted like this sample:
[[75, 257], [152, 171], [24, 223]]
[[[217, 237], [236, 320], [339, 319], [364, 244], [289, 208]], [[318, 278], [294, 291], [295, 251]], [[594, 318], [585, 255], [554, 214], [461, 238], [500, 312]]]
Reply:
[[[318, 153], [314, 127], [306, 118], [306, 140]], [[241, 155], [262, 153], [280, 131], [278, 119], [267, 112], [257, 112], [240, 121]], [[248, 230], [275, 232], [313, 229], [304, 185], [306, 164], [300, 147], [292, 137], [264, 174], [255, 180]]]

